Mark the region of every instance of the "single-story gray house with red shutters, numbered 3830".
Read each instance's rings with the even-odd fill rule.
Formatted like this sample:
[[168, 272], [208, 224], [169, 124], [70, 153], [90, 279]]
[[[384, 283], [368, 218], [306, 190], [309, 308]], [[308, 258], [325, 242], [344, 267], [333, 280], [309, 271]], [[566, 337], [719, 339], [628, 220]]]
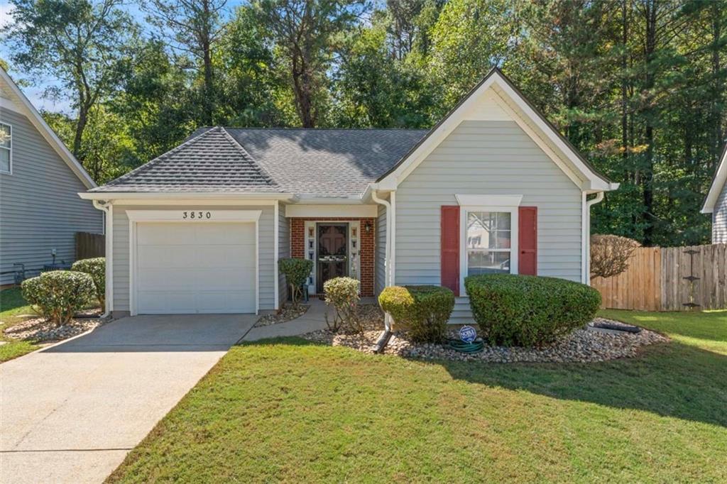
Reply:
[[108, 213], [115, 313], [275, 310], [278, 258], [305, 257], [311, 293], [442, 284], [461, 322], [467, 274], [587, 283], [589, 208], [616, 187], [493, 70], [430, 131], [199, 129], [80, 195]]

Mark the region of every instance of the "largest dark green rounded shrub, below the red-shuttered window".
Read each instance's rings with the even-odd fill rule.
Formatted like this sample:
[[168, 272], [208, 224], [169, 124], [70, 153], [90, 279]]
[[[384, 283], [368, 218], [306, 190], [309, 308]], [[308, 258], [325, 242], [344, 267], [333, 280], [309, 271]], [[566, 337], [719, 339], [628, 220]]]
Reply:
[[537, 347], [592, 320], [601, 294], [565, 279], [484, 274], [465, 278], [475, 322], [490, 344]]

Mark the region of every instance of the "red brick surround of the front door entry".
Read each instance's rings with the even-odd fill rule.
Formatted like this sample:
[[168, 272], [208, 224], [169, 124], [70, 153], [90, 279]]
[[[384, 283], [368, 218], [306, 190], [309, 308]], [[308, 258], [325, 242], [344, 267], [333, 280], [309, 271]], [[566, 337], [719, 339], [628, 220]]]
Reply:
[[[361, 296], [371, 297], [374, 295], [374, 240], [376, 233], [376, 219], [374, 218], [343, 218], [343, 217], [312, 217], [290, 219], [290, 254], [291, 257], [303, 259], [305, 257], [305, 222], [315, 220], [316, 222], [361, 222]], [[371, 227], [366, 232], [366, 226]]]

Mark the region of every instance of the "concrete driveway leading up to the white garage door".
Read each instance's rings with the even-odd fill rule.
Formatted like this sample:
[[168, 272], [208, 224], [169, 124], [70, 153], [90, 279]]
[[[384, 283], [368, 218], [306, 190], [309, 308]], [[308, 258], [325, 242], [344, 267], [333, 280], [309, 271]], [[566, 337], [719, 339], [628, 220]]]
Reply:
[[0, 483], [98, 483], [254, 315], [123, 318], [0, 365]]

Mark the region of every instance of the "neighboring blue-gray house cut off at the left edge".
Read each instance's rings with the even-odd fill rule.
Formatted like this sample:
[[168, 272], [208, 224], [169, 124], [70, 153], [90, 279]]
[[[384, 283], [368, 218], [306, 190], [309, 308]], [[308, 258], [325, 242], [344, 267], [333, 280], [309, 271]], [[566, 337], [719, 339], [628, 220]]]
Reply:
[[103, 233], [103, 214], [80, 200], [96, 186], [0, 68], [0, 286], [75, 257], [76, 232]]

